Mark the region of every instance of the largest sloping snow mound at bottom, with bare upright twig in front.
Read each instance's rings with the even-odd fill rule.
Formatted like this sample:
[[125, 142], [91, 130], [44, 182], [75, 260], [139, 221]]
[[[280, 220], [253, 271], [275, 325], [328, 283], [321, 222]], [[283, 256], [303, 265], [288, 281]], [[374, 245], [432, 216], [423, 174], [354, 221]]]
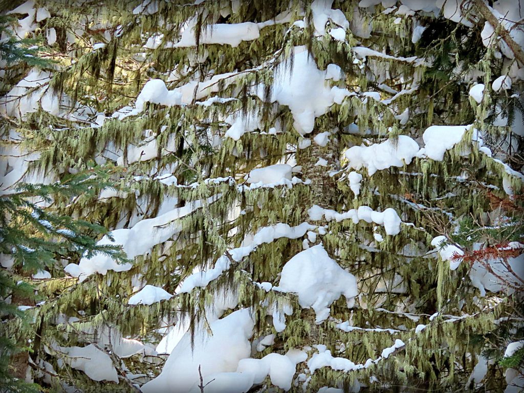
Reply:
[[[203, 328], [195, 332], [193, 349], [191, 334], [185, 333], [169, 355], [160, 375], [143, 385], [142, 391], [187, 393], [200, 383], [199, 366], [204, 378], [217, 373], [235, 372], [238, 362], [249, 357], [251, 352], [249, 339], [253, 334], [254, 321], [250, 310], [235, 311], [211, 322], [209, 328], [212, 334]], [[211, 384], [208, 387], [212, 391]]]

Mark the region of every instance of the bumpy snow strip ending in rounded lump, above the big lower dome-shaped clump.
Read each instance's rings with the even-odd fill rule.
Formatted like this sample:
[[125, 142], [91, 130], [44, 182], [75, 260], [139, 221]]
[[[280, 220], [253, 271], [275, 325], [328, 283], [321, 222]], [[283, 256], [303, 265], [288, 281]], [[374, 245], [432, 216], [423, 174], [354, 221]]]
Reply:
[[374, 222], [378, 225], [384, 225], [387, 235], [398, 235], [402, 222], [395, 209], [387, 208], [384, 212], [377, 212], [369, 208], [369, 206], [359, 206], [357, 210], [351, 209], [345, 213], [338, 213], [334, 210], [323, 209], [319, 205], [313, 205], [308, 210], [308, 214], [312, 221], [320, 221], [322, 216], [325, 216], [326, 221], [335, 220], [340, 222], [351, 219], [355, 224], [358, 224], [360, 220], [364, 220], [367, 223]]

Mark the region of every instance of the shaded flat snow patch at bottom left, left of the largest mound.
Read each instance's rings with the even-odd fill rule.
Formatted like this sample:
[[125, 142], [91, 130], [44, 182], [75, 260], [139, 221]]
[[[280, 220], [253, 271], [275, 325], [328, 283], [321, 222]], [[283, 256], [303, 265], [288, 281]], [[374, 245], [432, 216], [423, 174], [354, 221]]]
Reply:
[[81, 370], [95, 381], [112, 381], [118, 383], [118, 375], [111, 357], [100, 351], [93, 344], [84, 347], [62, 347], [58, 350], [64, 362], [72, 368]]

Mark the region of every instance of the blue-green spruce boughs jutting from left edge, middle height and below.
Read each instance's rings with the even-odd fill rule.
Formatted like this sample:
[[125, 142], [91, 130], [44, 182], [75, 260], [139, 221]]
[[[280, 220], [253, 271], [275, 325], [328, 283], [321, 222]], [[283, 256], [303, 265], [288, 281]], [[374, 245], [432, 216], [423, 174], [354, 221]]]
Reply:
[[[42, 202], [52, 203], [57, 196], [70, 199], [82, 193], [97, 194], [112, 184], [108, 173], [106, 169], [93, 168], [52, 184], [20, 184], [16, 192], [0, 196], [0, 253], [3, 258], [14, 259], [13, 272], [0, 270], [0, 315], [4, 322], [12, 318], [29, 322], [18, 304], [6, 302], [15, 297], [34, 302], [36, 288], [19, 281], [21, 277], [53, 267], [60, 260], [78, 261], [96, 254], [111, 256], [119, 263], [128, 262], [122, 246], [96, 244], [101, 235], [111, 238], [103, 226], [41, 207]], [[0, 366], [4, 366], [0, 370], [0, 385], [9, 391], [35, 391], [34, 386], [24, 385], [6, 372], [9, 358], [26, 349], [20, 342], [8, 339], [0, 345]]]

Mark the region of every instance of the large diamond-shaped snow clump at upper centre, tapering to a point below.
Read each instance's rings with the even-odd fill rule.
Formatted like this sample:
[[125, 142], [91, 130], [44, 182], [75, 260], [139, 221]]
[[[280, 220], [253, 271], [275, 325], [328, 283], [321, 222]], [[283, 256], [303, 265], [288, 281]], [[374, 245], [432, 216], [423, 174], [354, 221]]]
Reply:
[[[334, 103], [341, 103], [350, 94], [347, 89], [330, 87], [326, 79], [331, 76], [327, 71], [316, 67], [304, 46], [294, 47], [293, 67], [286, 62], [278, 65], [272, 86], [270, 101], [287, 105], [293, 115], [293, 126], [300, 135], [313, 130], [315, 117], [326, 113]], [[263, 86], [256, 90], [258, 97], [264, 100]]]

